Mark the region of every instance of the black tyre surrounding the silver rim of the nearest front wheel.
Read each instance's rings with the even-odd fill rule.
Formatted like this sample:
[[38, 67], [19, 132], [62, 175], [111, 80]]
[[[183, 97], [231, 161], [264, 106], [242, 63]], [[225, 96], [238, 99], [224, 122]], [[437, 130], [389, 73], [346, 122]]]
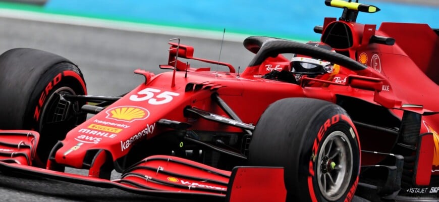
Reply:
[[[337, 123], [326, 124], [326, 130], [320, 131], [325, 122], [331, 121], [334, 116], [342, 118]], [[318, 154], [321, 142], [335, 130], [346, 134], [352, 148], [352, 175], [347, 182], [348, 188], [340, 194], [338, 201], [350, 200], [358, 182], [359, 140], [346, 111], [334, 103], [296, 97], [280, 99], [271, 104], [253, 131], [248, 165], [284, 167], [287, 201], [327, 201], [315, 177], [316, 162], [311, 160], [313, 149], [314, 154]]]

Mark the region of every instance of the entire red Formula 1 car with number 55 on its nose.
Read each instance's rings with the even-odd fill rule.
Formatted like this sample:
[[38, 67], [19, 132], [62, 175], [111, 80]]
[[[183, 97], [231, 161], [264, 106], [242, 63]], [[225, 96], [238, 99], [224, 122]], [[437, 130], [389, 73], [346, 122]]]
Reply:
[[170, 71], [136, 70], [144, 83], [118, 97], [87, 95], [63, 57], [4, 53], [0, 171], [177, 198], [437, 201], [439, 31], [325, 4], [343, 15], [315, 27], [321, 42], [248, 37], [239, 73], [173, 40]]

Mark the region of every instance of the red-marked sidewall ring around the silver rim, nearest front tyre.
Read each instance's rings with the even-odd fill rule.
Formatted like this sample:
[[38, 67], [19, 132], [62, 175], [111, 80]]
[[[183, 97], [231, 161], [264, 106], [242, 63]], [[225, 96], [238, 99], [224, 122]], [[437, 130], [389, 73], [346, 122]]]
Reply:
[[[301, 168], [307, 168], [307, 170], [300, 170], [299, 173], [303, 172], [303, 175], [299, 175], [298, 177], [300, 182], [306, 182], [308, 186], [302, 186], [299, 187], [299, 189], [308, 192], [313, 201], [327, 201], [320, 192], [317, 182], [317, 169], [320, 169], [317, 167], [317, 155], [319, 154], [320, 149], [322, 149], [322, 142], [326, 140], [327, 136], [334, 131], [341, 131], [346, 134], [348, 138], [347, 140], [351, 144], [353, 168], [349, 187], [344, 192], [343, 196], [336, 201], [350, 201], [357, 187], [360, 169], [359, 141], [351, 119], [341, 107], [330, 105], [317, 113], [306, 128], [307, 130], [305, 131], [305, 134], [307, 134], [306, 137], [308, 138], [303, 138], [299, 164], [301, 165]], [[292, 173], [289, 173], [291, 171], [292, 169], [289, 169], [289, 166], [287, 166], [285, 171], [286, 178], [288, 178], [289, 175], [292, 175]]]

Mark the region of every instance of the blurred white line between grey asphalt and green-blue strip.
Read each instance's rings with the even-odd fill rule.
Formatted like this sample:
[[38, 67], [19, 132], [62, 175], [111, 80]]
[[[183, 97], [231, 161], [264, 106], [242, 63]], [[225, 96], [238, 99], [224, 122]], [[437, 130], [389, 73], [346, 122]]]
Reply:
[[[172, 37], [185, 36], [185, 37], [206, 38], [206, 39], [214, 39], [214, 40], [221, 40], [223, 38], [223, 30], [207, 31], [200, 29], [177, 28], [171, 26], [159, 26], [159, 25], [124, 22], [124, 21], [116, 21], [116, 20], [104, 20], [104, 19], [68, 16], [68, 15], [60, 15], [60, 14], [48, 14], [48, 13], [21, 11], [14, 9], [0, 9], [0, 17], [38, 21], [38, 22], [57, 23], [57, 24], [86, 26], [86, 27], [107, 28], [107, 29], [115, 29], [115, 30], [123, 30], [123, 31], [166, 34], [166, 35], [171, 35]], [[242, 42], [248, 36], [250, 35], [227, 33], [226, 30], [226, 35], [224, 37], [224, 40], [233, 41], [233, 42]]]

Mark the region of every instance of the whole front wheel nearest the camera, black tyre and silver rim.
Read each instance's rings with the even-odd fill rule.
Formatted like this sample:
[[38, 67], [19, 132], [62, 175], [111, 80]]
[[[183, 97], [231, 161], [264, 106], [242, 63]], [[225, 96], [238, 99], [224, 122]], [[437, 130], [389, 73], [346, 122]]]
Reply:
[[281, 99], [260, 117], [248, 163], [284, 167], [287, 201], [349, 201], [358, 184], [359, 140], [340, 106], [311, 98]]

